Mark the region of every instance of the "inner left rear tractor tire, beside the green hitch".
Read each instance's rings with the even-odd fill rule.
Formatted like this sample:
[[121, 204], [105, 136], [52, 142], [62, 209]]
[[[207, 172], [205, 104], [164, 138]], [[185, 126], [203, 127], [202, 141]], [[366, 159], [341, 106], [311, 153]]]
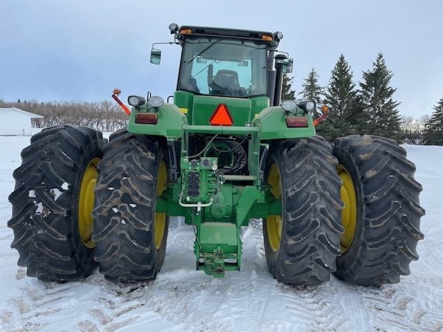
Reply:
[[144, 282], [159, 273], [169, 220], [155, 206], [168, 180], [167, 158], [163, 142], [125, 130], [105, 145], [92, 239], [99, 271], [111, 282]]

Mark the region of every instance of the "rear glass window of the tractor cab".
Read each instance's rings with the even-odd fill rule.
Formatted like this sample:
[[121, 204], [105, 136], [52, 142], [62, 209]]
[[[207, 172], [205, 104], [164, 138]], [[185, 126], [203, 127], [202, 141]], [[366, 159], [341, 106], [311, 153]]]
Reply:
[[177, 90], [237, 98], [266, 95], [266, 45], [222, 37], [187, 38]]

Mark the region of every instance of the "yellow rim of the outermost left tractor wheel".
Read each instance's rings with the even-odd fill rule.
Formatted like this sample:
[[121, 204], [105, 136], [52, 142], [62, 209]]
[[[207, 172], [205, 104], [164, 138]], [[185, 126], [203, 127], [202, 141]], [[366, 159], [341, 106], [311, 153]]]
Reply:
[[80, 197], [78, 199], [78, 230], [80, 237], [87, 248], [94, 248], [96, 243], [91, 240], [94, 219], [92, 210], [94, 208], [94, 187], [97, 183], [97, 165], [100, 158], [94, 158], [89, 163], [82, 177], [80, 185]]

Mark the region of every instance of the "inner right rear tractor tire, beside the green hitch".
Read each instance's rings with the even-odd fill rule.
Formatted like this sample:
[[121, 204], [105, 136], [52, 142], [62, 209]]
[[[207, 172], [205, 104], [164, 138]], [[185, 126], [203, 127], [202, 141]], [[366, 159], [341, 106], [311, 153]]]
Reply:
[[276, 142], [269, 151], [264, 182], [282, 199], [282, 215], [263, 221], [269, 270], [284, 284], [326, 282], [336, 269], [343, 233], [341, 179], [332, 147], [315, 136]]

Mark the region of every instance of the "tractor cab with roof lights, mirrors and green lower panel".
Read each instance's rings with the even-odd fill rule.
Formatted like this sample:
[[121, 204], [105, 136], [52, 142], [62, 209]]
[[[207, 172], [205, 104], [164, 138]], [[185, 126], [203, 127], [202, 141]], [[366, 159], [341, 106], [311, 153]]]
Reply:
[[[280, 105], [282, 74], [292, 71], [292, 59], [275, 55], [282, 33], [177, 24], [170, 31], [182, 47], [174, 104], [188, 123], [210, 124], [217, 106], [226, 104], [233, 124], [244, 126], [266, 107]], [[154, 45], [151, 62], [159, 64]]]

